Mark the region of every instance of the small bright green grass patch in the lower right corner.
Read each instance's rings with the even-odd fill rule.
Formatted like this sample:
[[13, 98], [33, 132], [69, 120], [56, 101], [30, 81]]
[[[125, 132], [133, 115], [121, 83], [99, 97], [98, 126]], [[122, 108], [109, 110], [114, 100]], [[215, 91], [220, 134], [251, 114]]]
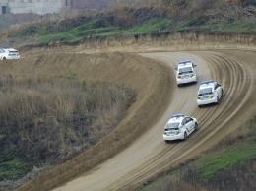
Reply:
[[203, 161], [200, 166], [200, 179], [208, 181], [225, 170], [244, 164], [249, 159], [256, 159], [256, 144], [242, 143], [238, 147], [226, 150], [223, 154], [216, 155]]

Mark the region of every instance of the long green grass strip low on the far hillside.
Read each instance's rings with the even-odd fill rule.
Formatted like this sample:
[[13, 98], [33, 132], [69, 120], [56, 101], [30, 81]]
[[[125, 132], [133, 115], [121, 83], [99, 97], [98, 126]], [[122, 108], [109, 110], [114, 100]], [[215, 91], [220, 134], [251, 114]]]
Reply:
[[87, 36], [140, 35], [161, 32], [181, 32], [184, 30], [196, 30], [198, 32], [256, 32], [256, 23], [252, 22], [225, 22], [220, 24], [198, 25], [196, 18], [173, 25], [170, 25], [171, 22], [172, 19], [169, 18], [158, 18], [148, 20], [130, 29], [120, 29], [118, 27], [109, 26], [101, 20], [92, 20], [67, 30], [66, 32], [39, 35], [37, 43], [42, 45], [51, 41], [73, 43], [82, 41]]

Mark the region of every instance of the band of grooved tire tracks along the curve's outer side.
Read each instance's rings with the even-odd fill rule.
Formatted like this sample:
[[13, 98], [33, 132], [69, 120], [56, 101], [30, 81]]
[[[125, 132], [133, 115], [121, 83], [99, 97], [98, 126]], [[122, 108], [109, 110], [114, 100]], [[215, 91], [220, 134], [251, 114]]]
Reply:
[[[198, 53], [195, 52], [195, 54]], [[213, 139], [215, 135], [218, 135], [218, 132], [221, 132], [222, 136], [218, 139], [214, 138], [213, 140], [221, 140], [229, 131], [237, 128], [237, 125], [233, 126], [232, 122], [230, 126], [226, 126], [230, 123], [231, 119], [239, 113], [241, 107], [244, 105], [243, 102], [246, 102], [250, 96], [252, 96], [253, 81], [251, 79], [254, 77], [251, 76], [250, 67], [248, 65], [247, 67], [243, 67], [240, 64], [240, 60], [235, 60], [230, 57], [226, 59], [225, 55], [219, 53], [204, 53], [204, 56], [199, 53], [199, 55], [204, 59], [204, 62], [210, 71], [210, 76], [208, 79], [204, 80], [209, 80], [210, 78], [221, 84], [224, 83], [225, 96], [221, 99], [219, 105], [203, 109], [200, 108], [195, 111], [193, 111], [193, 109], [191, 110], [192, 114], [194, 112], [197, 118], [202, 119], [202, 121], [200, 121], [200, 135], [193, 135], [186, 143], [178, 143], [178, 145], [175, 146], [170, 145], [167, 146], [168, 148], [165, 147], [166, 145], [160, 144], [159, 149], [161, 148], [161, 150], [158, 155], [156, 154], [155, 157], [148, 161], [145, 159], [145, 162], [138, 168], [131, 170], [128, 175], [120, 178], [125, 180], [122, 183], [123, 185], [119, 186], [120, 190], [129, 190], [132, 188], [131, 185], [138, 185], [140, 182], [147, 181], [147, 179], [156, 176], [152, 175], [151, 171], [161, 173], [166, 168], [176, 165], [178, 161], [182, 162], [185, 159], [189, 159], [188, 156], [191, 157], [191, 153], [195, 151], [197, 151], [195, 153], [198, 154], [198, 149], [200, 149], [200, 147], [203, 149], [203, 145], [208, 145], [208, 147], [210, 147], [215, 143], [211, 141], [211, 139]], [[249, 78], [245, 78], [247, 76]], [[237, 91], [237, 88], [239, 89], [239, 92]], [[244, 93], [246, 94], [244, 95]], [[188, 95], [189, 93], [187, 93], [186, 96], [180, 97], [182, 108], [184, 108], [184, 103], [182, 101], [195, 101], [195, 97], [194, 99], [189, 99]], [[243, 101], [240, 101], [242, 99]], [[240, 114], [242, 113], [239, 113], [238, 115]], [[236, 121], [235, 123], [238, 122]], [[191, 150], [187, 150], [190, 144], [193, 144], [194, 147], [191, 148], [190, 146]], [[158, 164], [156, 165], [155, 163]], [[120, 182], [115, 181], [107, 187], [107, 190], [115, 189], [118, 184], [120, 184]]]

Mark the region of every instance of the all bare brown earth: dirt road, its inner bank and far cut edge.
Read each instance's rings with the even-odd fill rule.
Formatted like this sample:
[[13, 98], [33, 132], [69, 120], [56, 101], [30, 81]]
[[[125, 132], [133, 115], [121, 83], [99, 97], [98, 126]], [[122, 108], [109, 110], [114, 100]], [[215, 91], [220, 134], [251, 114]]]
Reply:
[[[242, 131], [242, 124], [256, 113], [255, 45], [247, 40], [253, 39], [250, 37], [226, 37], [225, 42], [222, 38], [207, 41], [195, 36], [187, 38], [186, 44], [183, 38], [152, 39], [129, 46], [123, 42], [91, 49], [92, 54], [85, 54], [89, 48], [83, 45], [75, 49], [79, 53], [74, 49], [67, 53], [69, 48], [39, 49], [24, 52], [15, 63], [1, 63], [1, 70], [16, 68], [35, 75], [72, 71], [87, 80], [122, 84], [138, 93], [125, 119], [94, 148], [17, 190], [136, 190], [162, 172], [197, 157], [230, 132]], [[225, 50], [218, 50], [220, 47]], [[134, 53], [110, 53], [117, 50]], [[156, 52], [147, 53], [152, 50]], [[173, 67], [183, 59], [197, 64], [199, 82], [214, 79], [223, 85], [219, 105], [197, 107], [199, 83], [176, 86]], [[185, 142], [166, 144], [162, 130], [169, 116], [176, 113], [196, 117], [200, 129]]]

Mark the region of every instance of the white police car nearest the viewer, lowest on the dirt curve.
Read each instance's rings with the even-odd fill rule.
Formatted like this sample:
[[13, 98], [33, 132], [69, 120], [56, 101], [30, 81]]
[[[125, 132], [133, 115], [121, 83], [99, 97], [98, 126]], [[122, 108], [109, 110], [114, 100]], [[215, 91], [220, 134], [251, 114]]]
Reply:
[[167, 143], [172, 140], [186, 140], [198, 129], [197, 119], [184, 114], [172, 115], [164, 127], [163, 140]]

